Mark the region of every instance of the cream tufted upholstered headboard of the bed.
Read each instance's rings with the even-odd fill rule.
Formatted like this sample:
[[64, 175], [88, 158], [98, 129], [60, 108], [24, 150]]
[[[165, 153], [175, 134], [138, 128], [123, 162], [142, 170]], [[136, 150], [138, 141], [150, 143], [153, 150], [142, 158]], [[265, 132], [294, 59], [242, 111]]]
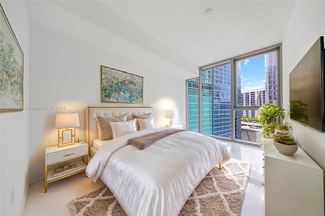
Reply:
[[132, 114], [152, 113], [152, 107], [87, 107], [86, 108], [86, 142], [92, 147], [94, 139], [98, 138], [96, 116], [114, 117], [126, 114], [126, 120], [132, 120]]

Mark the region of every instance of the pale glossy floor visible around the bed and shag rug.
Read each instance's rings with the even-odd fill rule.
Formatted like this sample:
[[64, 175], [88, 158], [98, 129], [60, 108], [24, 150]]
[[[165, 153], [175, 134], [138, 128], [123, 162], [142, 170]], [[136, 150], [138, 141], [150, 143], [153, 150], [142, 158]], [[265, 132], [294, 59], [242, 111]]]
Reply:
[[[231, 142], [224, 145], [232, 158], [251, 164], [241, 215], [264, 215], [262, 150]], [[44, 182], [30, 185], [23, 215], [70, 215], [70, 200], [102, 186], [102, 181], [92, 183], [84, 172], [49, 184], [47, 193], [44, 193]]]

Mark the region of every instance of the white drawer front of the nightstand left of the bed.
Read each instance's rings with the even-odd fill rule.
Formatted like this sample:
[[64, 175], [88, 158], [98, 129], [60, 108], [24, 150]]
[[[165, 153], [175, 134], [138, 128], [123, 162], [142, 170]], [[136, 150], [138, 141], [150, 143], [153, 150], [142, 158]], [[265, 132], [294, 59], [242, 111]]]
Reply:
[[62, 160], [68, 160], [70, 158], [75, 158], [86, 154], [88, 154], [88, 145], [62, 150], [58, 152], [48, 153], [46, 155], [46, 164], [56, 163]]

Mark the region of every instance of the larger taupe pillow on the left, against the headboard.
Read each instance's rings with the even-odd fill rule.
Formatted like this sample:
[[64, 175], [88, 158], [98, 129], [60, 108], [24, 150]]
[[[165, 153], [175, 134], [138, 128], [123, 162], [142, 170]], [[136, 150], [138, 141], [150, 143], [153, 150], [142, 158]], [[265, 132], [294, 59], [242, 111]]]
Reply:
[[110, 122], [126, 122], [126, 115], [115, 117], [96, 116], [96, 119], [100, 128], [98, 135], [101, 137], [101, 140], [106, 140], [113, 138]]

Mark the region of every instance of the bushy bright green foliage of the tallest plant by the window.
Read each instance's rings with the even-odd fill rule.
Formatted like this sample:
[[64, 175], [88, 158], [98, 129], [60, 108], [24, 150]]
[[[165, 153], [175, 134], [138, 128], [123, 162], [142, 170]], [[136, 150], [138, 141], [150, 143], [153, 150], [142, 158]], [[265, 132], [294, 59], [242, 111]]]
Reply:
[[284, 119], [285, 113], [282, 107], [266, 103], [263, 106], [259, 107], [257, 111], [257, 119], [262, 123], [264, 127], [270, 122], [275, 122], [277, 117], [282, 117]]

